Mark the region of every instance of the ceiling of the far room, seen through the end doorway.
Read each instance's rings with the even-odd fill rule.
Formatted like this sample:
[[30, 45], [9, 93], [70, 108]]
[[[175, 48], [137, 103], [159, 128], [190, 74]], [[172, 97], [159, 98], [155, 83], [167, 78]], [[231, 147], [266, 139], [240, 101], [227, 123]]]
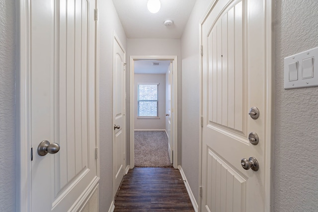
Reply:
[[[153, 66], [153, 63], [159, 63], [157, 66]], [[135, 73], [149, 73], [149, 74], [164, 74], [169, 67], [170, 61], [156, 61], [156, 60], [144, 60], [134, 62]]]

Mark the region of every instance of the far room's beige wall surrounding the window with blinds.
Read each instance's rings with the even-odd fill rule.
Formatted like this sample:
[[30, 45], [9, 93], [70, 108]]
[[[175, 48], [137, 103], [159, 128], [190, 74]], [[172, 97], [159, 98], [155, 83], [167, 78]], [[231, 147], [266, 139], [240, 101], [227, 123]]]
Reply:
[[[135, 73], [135, 130], [164, 130], [165, 129], [165, 74], [136, 74]], [[159, 83], [158, 86], [158, 116], [159, 119], [138, 119], [138, 83]]]

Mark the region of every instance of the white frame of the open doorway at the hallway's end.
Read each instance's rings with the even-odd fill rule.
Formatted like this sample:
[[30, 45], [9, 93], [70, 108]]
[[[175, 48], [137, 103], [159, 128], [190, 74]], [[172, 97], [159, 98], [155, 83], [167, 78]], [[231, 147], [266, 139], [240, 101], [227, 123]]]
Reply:
[[178, 168], [178, 61], [177, 56], [130, 56], [130, 168], [135, 167], [135, 77], [134, 77], [134, 62], [139, 60], [170, 60], [172, 61], [172, 87], [173, 87], [173, 105], [171, 108], [173, 110], [173, 115], [171, 115], [173, 119], [173, 125], [171, 126], [171, 130], [173, 130], [173, 168]]

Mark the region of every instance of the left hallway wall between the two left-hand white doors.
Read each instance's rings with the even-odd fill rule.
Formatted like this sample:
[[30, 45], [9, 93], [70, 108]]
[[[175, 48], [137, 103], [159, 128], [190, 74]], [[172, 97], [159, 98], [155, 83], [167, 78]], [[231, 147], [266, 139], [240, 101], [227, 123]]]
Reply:
[[127, 39], [112, 0], [99, 1], [99, 210], [113, 200], [113, 29], [127, 51]]

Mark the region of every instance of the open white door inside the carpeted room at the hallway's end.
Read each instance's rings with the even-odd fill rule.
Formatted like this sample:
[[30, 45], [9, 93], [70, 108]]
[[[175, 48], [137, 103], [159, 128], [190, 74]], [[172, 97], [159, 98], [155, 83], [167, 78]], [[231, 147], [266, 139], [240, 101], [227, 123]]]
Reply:
[[169, 151], [169, 158], [170, 163], [173, 162], [173, 138], [171, 137], [171, 76], [172, 75], [172, 62], [170, 62], [168, 71], [167, 71], [167, 85], [166, 85], [166, 112], [165, 112], [165, 123], [167, 129], [167, 136], [168, 136], [168, 151]]

